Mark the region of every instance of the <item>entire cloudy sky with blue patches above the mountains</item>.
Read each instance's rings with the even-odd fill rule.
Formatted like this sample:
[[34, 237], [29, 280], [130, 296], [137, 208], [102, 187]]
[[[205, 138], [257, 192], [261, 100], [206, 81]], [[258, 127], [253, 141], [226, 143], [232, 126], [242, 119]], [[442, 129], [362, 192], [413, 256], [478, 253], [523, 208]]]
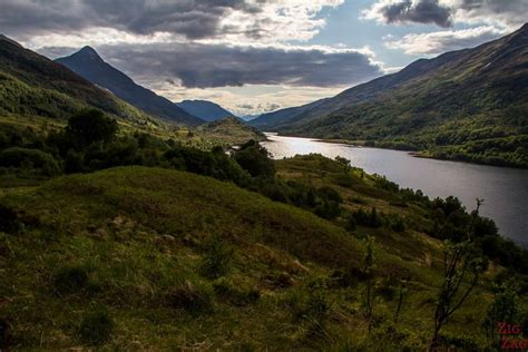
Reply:
[[0, 0], [0, 33], [50, 58], [92, 46], [174, 100], [297, 106], [528, 19], [528, 0]]

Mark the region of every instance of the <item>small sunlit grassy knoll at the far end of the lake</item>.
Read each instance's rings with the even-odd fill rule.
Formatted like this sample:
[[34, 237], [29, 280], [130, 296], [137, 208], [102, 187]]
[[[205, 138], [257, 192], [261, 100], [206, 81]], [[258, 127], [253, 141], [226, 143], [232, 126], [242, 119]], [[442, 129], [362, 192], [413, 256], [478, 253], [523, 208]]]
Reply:
[[226, 145], [241, 145], [250, 139], [265, 140], [266, 136], [237, 117], [226, 117], [198, 127], [207, 140]]

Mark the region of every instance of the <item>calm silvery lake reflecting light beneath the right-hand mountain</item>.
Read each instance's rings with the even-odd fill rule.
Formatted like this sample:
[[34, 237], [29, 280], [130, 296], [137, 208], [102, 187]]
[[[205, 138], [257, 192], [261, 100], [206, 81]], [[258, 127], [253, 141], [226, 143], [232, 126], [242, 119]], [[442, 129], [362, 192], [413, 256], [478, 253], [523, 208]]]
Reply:
[[402, 187], [421, 189], [429, 197], [457, 196], [468, 209], [483, 198], [481, 215], [492, 218], [502, 235], [528, 245], [528, 170], [410, 156], [407, 151], [358, 148], [309, 138], [266, 134], [263, 146], [274, 158], [296, 154], [338, 155], [369, 174], [387, 176]]

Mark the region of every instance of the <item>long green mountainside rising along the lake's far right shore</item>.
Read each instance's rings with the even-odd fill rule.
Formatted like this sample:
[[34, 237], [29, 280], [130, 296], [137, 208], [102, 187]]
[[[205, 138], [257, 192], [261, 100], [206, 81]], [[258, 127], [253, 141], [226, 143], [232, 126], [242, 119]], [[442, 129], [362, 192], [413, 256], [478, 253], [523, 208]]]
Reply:
[[438, 158], [528, 167], [526, 97], [528, 25], [472, 49], [420, 59], [313, 107], [275, 111], [275, 119], [262, 116], [252, 125]]

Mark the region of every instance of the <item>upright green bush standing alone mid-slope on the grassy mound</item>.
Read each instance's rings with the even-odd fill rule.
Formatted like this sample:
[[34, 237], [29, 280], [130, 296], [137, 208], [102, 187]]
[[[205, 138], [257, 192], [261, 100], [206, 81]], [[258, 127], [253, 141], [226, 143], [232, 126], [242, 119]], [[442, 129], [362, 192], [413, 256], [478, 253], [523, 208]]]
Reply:
[[213, 236], [204, 248], [202, 273], [212, 278], [227, 274], [232, 257], [233, 250], [219, 236]]

